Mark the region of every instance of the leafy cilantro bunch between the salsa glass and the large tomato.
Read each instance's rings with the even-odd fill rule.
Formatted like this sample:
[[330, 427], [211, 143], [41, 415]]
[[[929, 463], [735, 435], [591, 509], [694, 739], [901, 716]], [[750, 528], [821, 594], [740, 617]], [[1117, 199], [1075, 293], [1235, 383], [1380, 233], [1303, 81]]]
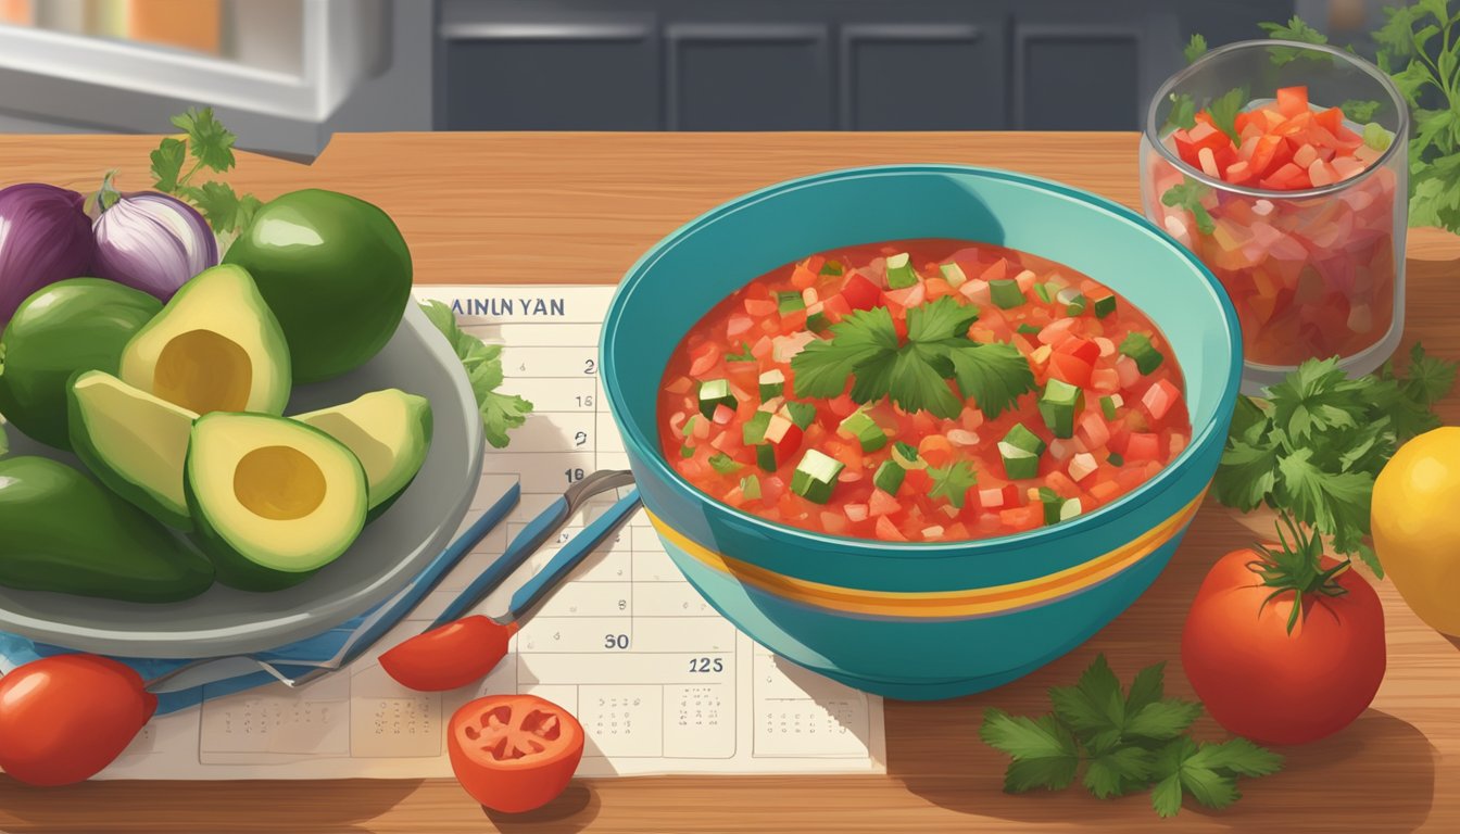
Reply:
[[1456, 364], [1421, 345], [1405, 374], [1386, 362], [1350, 380], [1336, 359], [1310, 359], [1266, 397], [1240, 397], [1213, 494], [1242, 513], [1278, 510], [1383, 577], [1364, 540], [1374, 479], [1400, 444], [1440, 425], [1431, 409], [1454, 383]]

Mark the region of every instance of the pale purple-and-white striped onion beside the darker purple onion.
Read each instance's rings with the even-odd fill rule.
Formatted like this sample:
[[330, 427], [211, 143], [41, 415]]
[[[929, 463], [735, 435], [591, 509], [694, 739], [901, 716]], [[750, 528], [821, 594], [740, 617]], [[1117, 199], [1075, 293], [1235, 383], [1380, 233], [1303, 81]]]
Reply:
[[177, 197], [126, 194], [92, 226], [96, 278], [172, 298], [193, 276], [218, 266], [218, 238], [203, 215]]

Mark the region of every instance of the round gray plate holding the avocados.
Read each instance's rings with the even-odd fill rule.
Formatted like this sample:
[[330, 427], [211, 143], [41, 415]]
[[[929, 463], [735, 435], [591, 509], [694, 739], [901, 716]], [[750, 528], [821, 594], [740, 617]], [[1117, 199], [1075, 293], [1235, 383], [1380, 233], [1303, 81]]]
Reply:
[[[307, 581], [273, 593], [213, 586], [180, 603], [140, 605], [0, 587], [0, 630], [82, 651], [128, 657], [207, 657], [274, 649], [326, 631], [406, 586], [456, 535], [482, 473], [482, 419], [461, 362], [415, 302], [384, 351], [359, 370], [299, 386], [289, 413], [402, 389], [431, 400], [426, 463], [355, 545]], [[7, 425], [12, 454], [80, 466]], [[3, 532], [0, 532], [3, 535]]]

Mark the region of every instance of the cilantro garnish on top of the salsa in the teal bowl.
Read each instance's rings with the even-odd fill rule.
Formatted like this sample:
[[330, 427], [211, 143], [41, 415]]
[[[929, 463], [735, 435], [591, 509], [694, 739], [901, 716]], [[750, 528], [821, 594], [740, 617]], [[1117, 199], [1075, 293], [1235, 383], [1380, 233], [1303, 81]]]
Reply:
[[978, 308], [943, 297], [908, 310], [907, 343], [901, 343], [886, 307], [857, 310], [831, 326], [791, 359], [800, 397], [835, 397], [851, 378], [851, 399], [891, 399], [907, 412], [958, 416], [962, 399], [955, 381], [984, 415], [999, 416], [1021, 394], [1034, 390], [1034, 371], [1018, 348], [968, 337]]

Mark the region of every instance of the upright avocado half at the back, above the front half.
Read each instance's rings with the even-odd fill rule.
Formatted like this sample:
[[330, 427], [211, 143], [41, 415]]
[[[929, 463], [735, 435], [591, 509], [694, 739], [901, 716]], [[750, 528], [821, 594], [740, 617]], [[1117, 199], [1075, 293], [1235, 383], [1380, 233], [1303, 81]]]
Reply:
[[279, 320], [238, 266], [215, 266], [184, 283], [127, 343], [117, 375], [199, 415], [280, 415], [292, 383]]

